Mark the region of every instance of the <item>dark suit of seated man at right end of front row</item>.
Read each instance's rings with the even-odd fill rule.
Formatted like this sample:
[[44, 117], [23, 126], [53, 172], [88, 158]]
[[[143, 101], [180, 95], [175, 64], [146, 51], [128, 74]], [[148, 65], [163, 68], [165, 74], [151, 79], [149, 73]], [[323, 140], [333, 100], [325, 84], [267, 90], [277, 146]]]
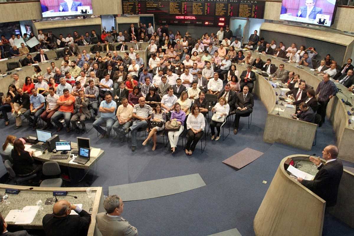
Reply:
[[[235, 111], [233, 112], [235, 113], [234, 129], [239, 128], [240, 117], [247, 117], [252, 113], [254, 105], [253, 95], [250, 92], [247, 93], [246, 100], [244, 99], [243, 92], [236, 94]], [[238, 107], [247, 107], [247, 109], [240, 111], [237, 109]]]

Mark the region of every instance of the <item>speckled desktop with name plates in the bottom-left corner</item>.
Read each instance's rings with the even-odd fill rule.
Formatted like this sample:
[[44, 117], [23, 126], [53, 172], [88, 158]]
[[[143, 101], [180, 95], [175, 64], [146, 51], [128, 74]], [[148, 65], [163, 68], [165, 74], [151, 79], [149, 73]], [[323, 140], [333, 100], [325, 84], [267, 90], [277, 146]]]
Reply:
[[[20, 185], [9, 185], [9, 184], [0, 184], [0, 189], [2, 192], [5, 191], [5, 188], [13, 189], [27, 189], [28, 186]], [[95, 234], [95, 225], [96, 225], [96, 214], [103, 212], [103, 192], [102, 187], [89, 187], [92, 190], [92, 205], [90, 205], [90, 200], [86, 194], [87, 188], [42, 188], [42, 187], [33, 187], [32, 190], [23, 190], [19, 194], [8, 194], [8, 205], [4, 204], [4, 201], [1, 202], [2, 216], [5, 218], [10, 210], [22, 210], [25, 206], [36, 206], [38, 200], [43, 202], [43, 210], [39, 210], [31, 224], [17, 224], [18, 226], [23, 226], [25, 229], [42, 229], [42, 218], [45, 214], [50, 214], [53, 212], [53, 205], [45, 205], [45, 201], [49, 197], [53, 197], [53, 191], [68, 191], [68, 195], [77, 196], [77, 199], [74, 199], [70, 196], [57, 196], [58, 200], [65, 199], [72, 204], [82, 203], [82, 209], [89, 212], [92, 207], [91, 214], [91, 223], [89, 226], [88, 236], [93, 236]], [[7, 222], [9, 225], [15, 225], [13, 222]]]

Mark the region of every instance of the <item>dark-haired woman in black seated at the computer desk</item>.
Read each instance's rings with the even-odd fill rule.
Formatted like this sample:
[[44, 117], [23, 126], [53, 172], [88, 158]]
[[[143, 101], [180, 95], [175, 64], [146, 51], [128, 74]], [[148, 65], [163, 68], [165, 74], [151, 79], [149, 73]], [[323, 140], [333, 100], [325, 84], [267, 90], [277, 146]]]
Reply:
[[11, 157], [13, 159], [12, 169], [15, 171], [16, 175], [33, 175], [42, 170], [42, 165], [34, 164], [32, 154], [33, 151], [24, 151], [24, 145], [21, 140], [17, 139], [13, 142], [13, 149], [11, 151]]

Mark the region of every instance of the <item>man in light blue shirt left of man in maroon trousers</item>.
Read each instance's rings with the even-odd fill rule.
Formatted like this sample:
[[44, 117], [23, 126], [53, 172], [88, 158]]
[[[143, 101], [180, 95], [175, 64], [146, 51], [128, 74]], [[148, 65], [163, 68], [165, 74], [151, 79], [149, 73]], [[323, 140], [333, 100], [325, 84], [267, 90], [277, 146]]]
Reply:
[[[32, 130], [37, 128], [37, 120], [38, 117], [44, 112], [44, 96], [42, 94], [38, 94], [37, 90], [33, 88], [31, 90], [32, 95], [29, 98], [29, 110], [27, 110], [23, 115], [29, 121], [29, 124], [32, 124]], [[33, 116], [33, 118], [31, 117]]]

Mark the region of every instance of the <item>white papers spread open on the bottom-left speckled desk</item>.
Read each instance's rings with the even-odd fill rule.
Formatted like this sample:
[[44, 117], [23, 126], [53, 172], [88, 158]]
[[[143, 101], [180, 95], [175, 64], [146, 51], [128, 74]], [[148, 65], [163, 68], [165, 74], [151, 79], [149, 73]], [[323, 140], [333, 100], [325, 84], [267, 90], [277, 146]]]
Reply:
[[33, 222], [39, 210], [39, 206], [25, 206], [21, 210], [11, 210], [6, 218], [6, 222], [15, 222], [15, 224], [30, 224]]

